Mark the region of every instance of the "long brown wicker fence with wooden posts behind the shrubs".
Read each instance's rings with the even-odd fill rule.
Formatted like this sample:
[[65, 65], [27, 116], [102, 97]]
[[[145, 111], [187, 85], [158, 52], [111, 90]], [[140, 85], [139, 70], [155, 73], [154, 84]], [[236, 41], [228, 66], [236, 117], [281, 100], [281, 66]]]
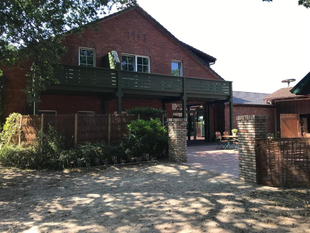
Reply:
[[[73, 147], [83, 142], [114, 143], [121, 141], [127, 133], [127, 125], [132, 120], [159, 118], [163, 122], [163, 116], [157, 115], [23, 115], [20, 122], [19, 144], [33, 142], [40, 130], [47, 132], [52, 126], [65, 138], [67, 146]], [[43, 124], [42, 124], [43, 122]]]

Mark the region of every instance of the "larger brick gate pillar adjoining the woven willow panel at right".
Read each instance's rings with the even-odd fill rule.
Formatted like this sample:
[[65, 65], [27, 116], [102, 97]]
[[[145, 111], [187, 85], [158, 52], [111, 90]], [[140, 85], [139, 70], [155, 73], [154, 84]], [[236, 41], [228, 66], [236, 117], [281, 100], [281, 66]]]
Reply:
[[265, 115], [237, 116], [239, 144], [239, 177], [241, 180], [257, 183], [255, 138], [267, 134]]

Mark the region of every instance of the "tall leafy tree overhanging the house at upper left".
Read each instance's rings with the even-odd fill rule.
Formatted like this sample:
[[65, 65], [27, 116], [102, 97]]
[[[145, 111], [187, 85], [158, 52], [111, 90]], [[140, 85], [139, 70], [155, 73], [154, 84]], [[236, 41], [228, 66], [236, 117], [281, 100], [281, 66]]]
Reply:
[[0, 4], [0, 63], [6, 66], [33, 62], [24, 89], [28, 102], [38, 101], [38, 93], [57, 83], [53, 65], [66, 48], [61, 39], [69, 29], [79, 32], [113, 5], [118, 9], [136, 0], [2, 0]]

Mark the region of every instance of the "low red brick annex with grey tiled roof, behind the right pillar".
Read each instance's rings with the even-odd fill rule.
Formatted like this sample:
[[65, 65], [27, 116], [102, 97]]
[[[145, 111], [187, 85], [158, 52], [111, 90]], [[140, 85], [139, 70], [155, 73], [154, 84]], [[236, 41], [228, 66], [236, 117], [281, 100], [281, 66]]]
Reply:
[[[265, 101], [269, 94], [233, 91], [233, 127], [237, 129], [237, 116], [267, 115], [267, 133], [276, 133], [275, 116], [276, 107]], [[225, 103], [225, 131], [229, 131], [229, 103]], [[220, 131], [221, 132], [221, 131]]]

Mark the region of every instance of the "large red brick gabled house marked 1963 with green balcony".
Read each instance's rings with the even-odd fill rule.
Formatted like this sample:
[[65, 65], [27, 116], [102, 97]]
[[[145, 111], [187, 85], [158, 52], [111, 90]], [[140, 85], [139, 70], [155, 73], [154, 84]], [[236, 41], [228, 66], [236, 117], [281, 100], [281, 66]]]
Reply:
[[232, 100], [232, 82], [210, 67], [216, 58], [179, 41], [138, 5], [101, 18], [99, 29], [90, 26], [66, 35], [68, 52], [55, 67], [60, 84], [49, 86], [40, 94], [41, 102], [30, 107], [21, 89], [31, 64], [1, 67], [9, 78], [6, 115], [121, 114], [150, 106], [166, 110], [171, 118], [172, 103], [180, 103], [175, 111], [182, 117], [198, 107], [208, 122], [205, 139], [212, 137], [214, 106]]

